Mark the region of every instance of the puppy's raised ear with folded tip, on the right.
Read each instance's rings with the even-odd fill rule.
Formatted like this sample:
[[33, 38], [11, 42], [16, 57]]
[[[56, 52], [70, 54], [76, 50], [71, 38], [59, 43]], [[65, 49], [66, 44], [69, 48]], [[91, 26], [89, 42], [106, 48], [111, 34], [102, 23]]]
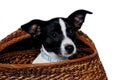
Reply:
[[86, 14], [92, 14], [92, 12], [87, 10], [77, 10], [68, 16], [68, 19], [73, 26], [80, 29], [85, 20]]

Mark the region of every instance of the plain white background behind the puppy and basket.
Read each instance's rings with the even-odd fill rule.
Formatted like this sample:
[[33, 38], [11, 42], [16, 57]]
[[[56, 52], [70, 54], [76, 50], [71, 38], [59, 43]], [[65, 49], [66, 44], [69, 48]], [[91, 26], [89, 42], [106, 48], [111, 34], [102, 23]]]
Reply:
[[95, 43], [109, 80], [120, 80], [119, 0], [1, 0], [0, 40], [32, 19], [67, 17], [78, 9], [92, 11], [82, 31]]

